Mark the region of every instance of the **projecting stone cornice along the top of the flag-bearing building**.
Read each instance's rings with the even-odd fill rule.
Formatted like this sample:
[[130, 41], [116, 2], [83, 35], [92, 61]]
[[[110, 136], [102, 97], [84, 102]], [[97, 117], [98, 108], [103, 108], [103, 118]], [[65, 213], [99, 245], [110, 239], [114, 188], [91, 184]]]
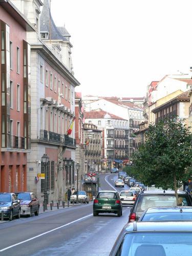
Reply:
[[66, 78], [66, 80], [73, 86], [79, 86], [80, 82], [69, 72], [69, 70], [54, 56], [49, 48], [44, 44], [31, 44], [31, 51], [38, 51], [38, 53], [46, 59], [50, 66]]

